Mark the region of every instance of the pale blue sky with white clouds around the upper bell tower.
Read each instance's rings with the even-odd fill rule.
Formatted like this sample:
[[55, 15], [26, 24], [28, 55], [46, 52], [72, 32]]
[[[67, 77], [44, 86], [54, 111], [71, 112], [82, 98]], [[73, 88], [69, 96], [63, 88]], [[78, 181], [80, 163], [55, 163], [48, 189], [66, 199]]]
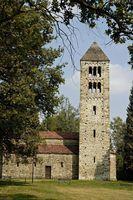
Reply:
[[75, 30], [71, 34], [63, 27], [74, 47], [73, 54], [68, 52], [68, 50], [70, 51], [70, 46], [65, 37], [63, 42], [59, 38], [54, 44], [55, 46], [61, 45], [64, 47], [64, 53], [58, 62], [68, 63], [64, 68], [65, 84], [60, 86], [60, 94], [68, 97], [73, 106], [79, 106], [80, 59], [95, 41], [110, 59], [110, 118], [112, 120], [114, 117], [119, 116], [125, 120], [133, 81], [133, 70], [131, 71], [131, 67], [128, 65], [129, 54], [127, 46], [130, 42], [128, 44], [114, 44], [105, 35], [105, 24], [101, 22], [95, 29], [90, 29], [87, 25], [78, 21], [74, 21], [73, 26]]

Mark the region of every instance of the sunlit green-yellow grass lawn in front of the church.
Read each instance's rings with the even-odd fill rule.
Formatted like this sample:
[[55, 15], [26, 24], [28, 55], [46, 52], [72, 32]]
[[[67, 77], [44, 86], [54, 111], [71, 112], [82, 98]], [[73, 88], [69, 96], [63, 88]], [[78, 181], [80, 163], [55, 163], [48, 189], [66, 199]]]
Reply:
[[132, 200], [133, 183], [107, 181], [0, 181], [0, 200]]

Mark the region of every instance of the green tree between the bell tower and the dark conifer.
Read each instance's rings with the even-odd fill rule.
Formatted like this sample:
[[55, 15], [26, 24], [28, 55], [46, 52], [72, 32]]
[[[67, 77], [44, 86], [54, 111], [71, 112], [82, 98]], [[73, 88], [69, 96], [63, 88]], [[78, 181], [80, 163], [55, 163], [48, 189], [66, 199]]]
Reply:
[[124, 136], [126, 124], [120, 117], [111, 122], [112, 148], [116, 149], [116, 171], [117, 179], [124, 179]]

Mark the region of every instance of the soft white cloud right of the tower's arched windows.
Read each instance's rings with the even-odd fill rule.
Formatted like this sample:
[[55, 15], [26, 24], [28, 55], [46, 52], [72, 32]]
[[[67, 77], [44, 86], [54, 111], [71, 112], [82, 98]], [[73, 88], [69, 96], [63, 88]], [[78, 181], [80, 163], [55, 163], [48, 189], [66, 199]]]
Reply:
[[111, 94], [129, 93], [133, 80], [133, 71], [130, 67], [122, 67], [118, 64], [110, 64], [110, 89]]

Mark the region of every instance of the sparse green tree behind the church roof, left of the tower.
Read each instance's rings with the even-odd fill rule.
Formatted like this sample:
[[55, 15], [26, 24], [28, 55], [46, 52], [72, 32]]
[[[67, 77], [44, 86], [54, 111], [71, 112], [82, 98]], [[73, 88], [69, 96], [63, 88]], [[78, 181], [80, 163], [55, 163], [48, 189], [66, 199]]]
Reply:
[[79, 132], [79, 110], [71, 105], [68, 98], [61, 96], [60, 100], [56, 114], [46, 118], [40, 129], [61, 133]]

